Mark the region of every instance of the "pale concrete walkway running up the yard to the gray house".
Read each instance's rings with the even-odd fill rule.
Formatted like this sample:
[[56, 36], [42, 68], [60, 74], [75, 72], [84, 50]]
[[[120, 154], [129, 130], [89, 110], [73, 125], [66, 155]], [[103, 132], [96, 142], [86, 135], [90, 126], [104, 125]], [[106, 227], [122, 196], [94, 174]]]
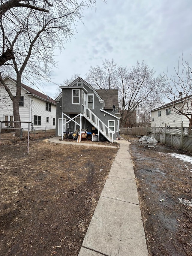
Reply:
[[[56, 142], [54, 139], [49, 141]], [[118, 143], [120, 148], [78, 256], [148, 256], [135, 175], [128, 151], [130, 143], [126, 140], [118, 140]]]

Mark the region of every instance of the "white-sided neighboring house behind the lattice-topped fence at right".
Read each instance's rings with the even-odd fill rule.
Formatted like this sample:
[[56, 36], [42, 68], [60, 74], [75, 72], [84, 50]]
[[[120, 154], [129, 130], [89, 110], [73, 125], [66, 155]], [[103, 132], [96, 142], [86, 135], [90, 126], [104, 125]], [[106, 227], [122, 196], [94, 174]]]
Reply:
[[[184, 127], [189, 126], [189, 119], [184, 115], [179, 115], [176, 113], [175, 107], [182, 107], [181, 100], [175, 101], [175, 103], [171, 102], [159, 108], [151, 110], [151, 127], [181, 127], [182, 122]], [[191, 99], [189, 102], [189, 112], [192, 113]], [[190, 114], [189, 114], [190, 116]]]

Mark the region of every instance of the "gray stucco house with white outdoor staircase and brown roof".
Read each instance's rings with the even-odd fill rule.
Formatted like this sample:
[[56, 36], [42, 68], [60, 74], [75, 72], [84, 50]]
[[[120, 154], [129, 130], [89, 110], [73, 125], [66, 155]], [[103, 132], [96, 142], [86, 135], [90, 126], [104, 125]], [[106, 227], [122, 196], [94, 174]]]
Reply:
[[114, 142], [119, 134], [120, 114], [117, 90], [96, 90], [81, 77], [60, 86], [57, 102], [56, 134], [76, 131], [80, 126]]

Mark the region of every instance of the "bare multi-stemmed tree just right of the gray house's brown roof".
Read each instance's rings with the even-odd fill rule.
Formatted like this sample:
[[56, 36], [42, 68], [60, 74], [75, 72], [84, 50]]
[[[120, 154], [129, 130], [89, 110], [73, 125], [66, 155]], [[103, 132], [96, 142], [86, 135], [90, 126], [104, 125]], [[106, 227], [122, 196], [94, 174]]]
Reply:
[[[153, 68], [144, 61], [137, 62], [135, 67], [125, 69], [119, 67], [122, 87], [120, 93], [121, 126], [124, 126], [132, 111], [142, 106], [152, 107], [156, 101], [157, 90], [164, 84], [164, 77], [155, 77]], [[126, 114], [123, 114], [126, 110]]]

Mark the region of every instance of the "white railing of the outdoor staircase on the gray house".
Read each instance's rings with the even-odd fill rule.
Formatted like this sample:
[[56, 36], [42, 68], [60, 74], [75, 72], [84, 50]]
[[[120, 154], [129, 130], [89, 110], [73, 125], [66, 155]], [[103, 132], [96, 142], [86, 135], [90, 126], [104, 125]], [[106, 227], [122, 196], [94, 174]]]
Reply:
[[88, 107], [85, 108], [83, 116], [85, 116], [85, 118], [92, 125], [94, 125], [98, 132], [101, 132], [101, 134], [103, 134], [107, 140], [113, 142], [113, 131], [106, 124], [104, 124], [104, 122], [102, 122], [101, 119], [99, 119], [98, 116], [96, 116]]

